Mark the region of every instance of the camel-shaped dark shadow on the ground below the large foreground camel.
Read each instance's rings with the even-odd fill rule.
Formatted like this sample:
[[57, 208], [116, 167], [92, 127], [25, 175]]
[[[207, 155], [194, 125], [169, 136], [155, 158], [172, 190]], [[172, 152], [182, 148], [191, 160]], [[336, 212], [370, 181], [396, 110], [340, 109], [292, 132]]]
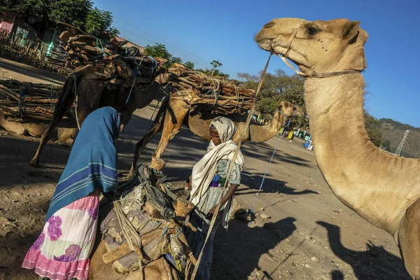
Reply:
[[[367, 244], [367, 251], [353, 251], [343, 246], [340, 228], [337, 225], [322, 221], [316, 223], [328, 231], [332, 252], [351, 265], [357, 279], [412, 279], [405, 270], [404, 262], [386, 251], [383, 246]], [[343, 279], [342, 273], [338, 271], [333, 271], [331, 275], [332, 280]]]

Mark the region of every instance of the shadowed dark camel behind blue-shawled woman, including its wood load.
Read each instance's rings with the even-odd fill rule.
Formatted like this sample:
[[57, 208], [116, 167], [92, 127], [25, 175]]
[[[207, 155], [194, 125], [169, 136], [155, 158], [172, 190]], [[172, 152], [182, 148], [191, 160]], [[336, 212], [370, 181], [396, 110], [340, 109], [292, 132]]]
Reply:
[[69, 28], [60, 35], [71, 53], [71, 64], [77, 68], [64, 83], [50, 125], [29, 162], [31, 165], [38, 165], [43, 146], [73, 102], [78, 127], [89, 113], [103, 106], [123, 111], [121, 122], [126, 125], [134, 110], [150, 104], [160, 90], [155, 79], [165, 71], [161, 65], [166, 59], [145, 57], [139, 51], [128, 52], [115, 41], [104, 42], [77, 32]]

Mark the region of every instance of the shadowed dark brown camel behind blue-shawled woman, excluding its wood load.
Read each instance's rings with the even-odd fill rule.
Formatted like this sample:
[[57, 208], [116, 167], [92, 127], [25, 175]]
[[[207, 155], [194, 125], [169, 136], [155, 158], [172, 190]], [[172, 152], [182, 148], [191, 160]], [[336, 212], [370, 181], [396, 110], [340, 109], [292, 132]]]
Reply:
[[[34, 158], [29, 162], [30, 165], [38, 165], [39, 155], [43, 146], [50, 138], [50, 134], [54, 131], [57, 124], [62, 120], [64, 113], [69, 111], [76, 97], [76, 120], [78, 125], [82, 125], [87, 115], [95, 109], [103, 106], [113, 106], [117, 110], [125, 107], [121, 114], [121, 123], [124, 126], [129, 122], [132, 113], [136, 109], [150, 104], [160, 90], [160, 84], [153, 80], [135, 85], [127, 104], [125, 104], [131, 85], [130, 87], [111, 87], [110, 89], [110, 87], [106, 86], [106, 83], [109, 83], [106, 79], [109, 77], [106, 76], [106, 73], [99, 73], [99, 71], [101, 69], [98, 69], [97, 66], [88, 64], [79, 67], [67, 78], [62, 88], [57, 108], [54, 111], [54, 116], [52, 116], [48, 129], [42, 134], [38, 150]], [[163, 74], [159, 75], [156, 80], [161, 79], [161, 76]], [[127, 83], [131, 82], [127, 81]]]

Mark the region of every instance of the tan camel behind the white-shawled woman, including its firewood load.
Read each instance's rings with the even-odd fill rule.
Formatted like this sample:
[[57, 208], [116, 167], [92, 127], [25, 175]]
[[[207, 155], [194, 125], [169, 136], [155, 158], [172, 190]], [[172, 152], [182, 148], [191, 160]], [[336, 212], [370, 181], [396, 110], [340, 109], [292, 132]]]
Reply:
[[239, 87], [233, 80], [191, 71], [180, 64], [174, 64], [166, 75], [172, 86], [169, 92], [173, 93], [162, 102], [151, 129], [137, 143], [127, 179], [133, 178], [140, 153], [159, 132], [162, 132], [162, 137], [153, 154], [152, 166], [162, 168], [165, 161], [160, 159], [160, 156], [169, 140], [174, 139], [183, 125], [195, 135], [209, 141], [211, 120], [216, 116], [228, 116], [237, 126], [233, 141], [238, 143], [241, 135], [245, 133], [244, 141], [260, 143], [274, 137], [288, 118], [304, 116], [302, 107], [282, 101], [279, 102], [271, 122], [246, 127], [246, 113], [255, 100], [254, 90]]

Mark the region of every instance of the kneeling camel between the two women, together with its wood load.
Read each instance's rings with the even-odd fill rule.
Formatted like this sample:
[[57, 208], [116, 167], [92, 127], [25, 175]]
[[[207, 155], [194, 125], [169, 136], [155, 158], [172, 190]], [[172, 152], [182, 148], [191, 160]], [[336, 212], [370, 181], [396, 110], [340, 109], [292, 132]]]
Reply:
[[196, 230], [188, 222], [194, 204], [171, 189], [164, 174], [141, 165], [121, 197], [100, 208], [90, 279], [189, 279], [196, 260], [182, 228]]

